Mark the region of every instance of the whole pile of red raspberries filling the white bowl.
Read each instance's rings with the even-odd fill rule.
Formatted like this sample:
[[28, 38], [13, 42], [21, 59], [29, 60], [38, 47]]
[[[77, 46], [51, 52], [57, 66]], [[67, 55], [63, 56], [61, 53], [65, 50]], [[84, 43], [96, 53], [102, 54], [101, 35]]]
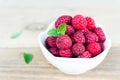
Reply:
[[60, 36], [49, 36], [46, 48], [56, 57], [92, 58], [104, 50], [105, 34], [91, 17], [83, 15], [60, 16], [55, 21], [55, 28], [66, 24], [66, 32]]

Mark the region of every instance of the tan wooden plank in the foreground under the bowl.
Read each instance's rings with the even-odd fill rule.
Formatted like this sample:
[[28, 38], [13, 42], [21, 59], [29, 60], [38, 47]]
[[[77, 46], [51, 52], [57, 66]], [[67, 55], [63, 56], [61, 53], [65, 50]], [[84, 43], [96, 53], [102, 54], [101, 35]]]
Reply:
[[[33, 61], [26, 65], [23, 51], [33, 53]], [[0, 80], [120, 80], [120, 49], [112, 47], [106, 59], [95, 69], [80, 75], [64, 74], [53, 67], [39, 48], [0, 49]]]

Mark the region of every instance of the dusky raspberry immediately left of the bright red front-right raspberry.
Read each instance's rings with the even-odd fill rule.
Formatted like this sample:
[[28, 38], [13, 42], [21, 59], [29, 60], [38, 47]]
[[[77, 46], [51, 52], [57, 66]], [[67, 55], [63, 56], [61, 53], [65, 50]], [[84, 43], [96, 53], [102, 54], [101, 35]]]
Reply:
[[72, 47], [72, 52], [73, 52], [74, 56], [79, 56], [79, 55], [81, 55], [84, 51], [85, 51], [85, 47], [83, 46], [83, 44], [76, 43], [76, 44], [74, 44], [73, 47]]

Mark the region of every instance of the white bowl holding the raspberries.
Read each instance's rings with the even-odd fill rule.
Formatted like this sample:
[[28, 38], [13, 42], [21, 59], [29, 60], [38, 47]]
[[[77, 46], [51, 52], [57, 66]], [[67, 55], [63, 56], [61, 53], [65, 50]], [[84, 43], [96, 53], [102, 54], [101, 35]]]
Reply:
[[96, 26], [101, 27], [106, 36], [106, 41], [104, 42], [105, 49], [102, 53], [100, 53], [96, 57], [88, 59], [88, 58], [63, 58], [53, 56], [46, 49], [45, 40], [48, 37], [47, 35], [48, 30], [54, 28], [54, 21], [48, 26], [48, 29], [45, 32], [40, 33], [38, 36], [38, 41], [43, 55], [53, 66], [67, 74], [81, 74], [95, 68], [104, 60], [111, 47], [111, 41], [106, 35], [106, 31], [104, 30], [103, 26], [101, 26], [98, 23], [96, 23]]

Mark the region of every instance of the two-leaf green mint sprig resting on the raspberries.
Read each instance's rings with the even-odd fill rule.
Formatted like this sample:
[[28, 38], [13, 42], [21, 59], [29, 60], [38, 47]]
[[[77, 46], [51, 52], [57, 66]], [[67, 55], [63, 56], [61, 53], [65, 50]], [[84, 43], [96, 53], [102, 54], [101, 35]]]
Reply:
[[66, 32], [66, 24], [60, 24], [57, 29], [52, 28], [50, 29], [47, 34], [50, 36], [59, 36], [59, 35], [64, 35]]

